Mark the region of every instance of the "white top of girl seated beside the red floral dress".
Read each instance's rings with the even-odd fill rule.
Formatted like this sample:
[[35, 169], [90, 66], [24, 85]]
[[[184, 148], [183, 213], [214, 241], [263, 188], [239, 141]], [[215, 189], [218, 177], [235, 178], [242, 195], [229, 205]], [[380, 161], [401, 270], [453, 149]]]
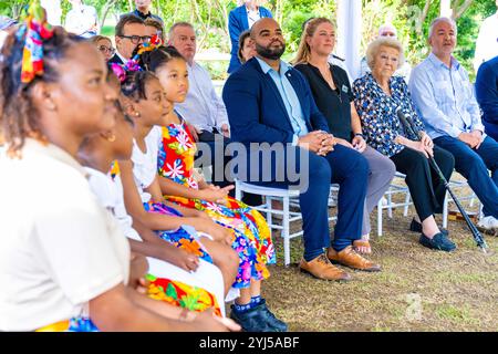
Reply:
[[151, 133], [145, 137], [145, 146], [147, 150], [143, 153], [133, 139], [133, 176], [138, 187], [142, 202], [148, 202], [151, 195], [144, 189], [152, 185], [157, 175], [157, 153], [162, 137], [160, 126], [152, 128]]

